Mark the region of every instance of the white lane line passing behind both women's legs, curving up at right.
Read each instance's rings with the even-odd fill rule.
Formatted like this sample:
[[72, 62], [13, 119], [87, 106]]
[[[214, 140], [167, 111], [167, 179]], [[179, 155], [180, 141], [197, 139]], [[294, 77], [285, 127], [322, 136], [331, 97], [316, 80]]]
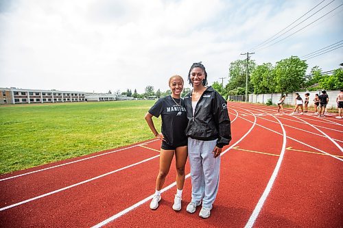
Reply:
[[[238, 116], [238, 112], [237, 112], [237, 116]], [[251, 122], [252, 123], [252, 122]], [[235, 142], [232, 146], [228, 147], [228, 149], [226, 149], [225, 151], [223, 151], [220, 156], [224, 155], [227, 151], [229, 151], [230, 149], [232, 149], [233, 147], [235, 147], [236, 144], [238, 144], [239, 142], [241, 142], [241, 140], [243, 140], [246, 136], [248, 136], [248, 134], [250, 133], [250, 131], [252, 131], [252, 129], [255, 127], [255, 123], [256, 123], [256, 117], [255, 117], [255, 121], [252, 124], [252, 127], [250, 127], [250, 129], [246, 132], [246, 134], [244, 134], [243, 137], [241, 137], [237, 142]], [[189, 178], [191, 176], [191, 174], [187, 174], [185, 179]], [[161, 192], [165, 192], [166, 190], [169, 190], [170, 188], [172, 188], [173, 186], [176, 186], [176, 182], [171, 183], [169, 186], [163, 188], [161, 190]], [[135, 203], [134, 205], [132, 205], [131, 207], [126, 208], [125, 210], [122, 210], [121, 212], [110, 216], [110, 218], [107, 218], [106, 220], [98, 223], [97, 225], [94, 225], [92, 228], [99, 228], [102, 227], [110, 222], [112, 222], [113, 220], [119, 218], [120, 216], [123, 216], [124, 214], [127, 214], [128, 212], [130, 212], [131, 210], [134, 210], [134, 208], [139, 207], [140, 205], [142, 205], [143, 203], [149, 201], [150, 199], [152, 199], [152, 197], [154, 197], [154, 195], [152, 194], [150, 197], [147, 197], [141, 201], [139, 201], [138, 203]]]

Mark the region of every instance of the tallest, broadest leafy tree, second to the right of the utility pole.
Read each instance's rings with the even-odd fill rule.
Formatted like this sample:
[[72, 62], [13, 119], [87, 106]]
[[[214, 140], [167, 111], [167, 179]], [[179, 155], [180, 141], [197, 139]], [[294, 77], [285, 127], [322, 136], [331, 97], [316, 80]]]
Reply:
[[276, 91], [293, 92], [303, 88], [305, 84], [305, 73], [307, 63], [300, 60], [297, 56], [291, 56], [285, 60], [276, 62], [275, 66], [275, 83]]

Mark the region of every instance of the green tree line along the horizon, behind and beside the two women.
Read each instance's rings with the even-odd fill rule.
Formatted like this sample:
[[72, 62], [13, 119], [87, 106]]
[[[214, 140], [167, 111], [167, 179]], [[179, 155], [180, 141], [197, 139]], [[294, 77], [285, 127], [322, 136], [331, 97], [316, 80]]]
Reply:
[[[228, 95], [244, 95], [246, 92], [246, 60], [235, 60], [228, 68], [228, 84], [223, 85], [215, 81], [211, 86], [223, 97]], [[342, 64], [341, 64], [342, 66]], [[290, 93], [294, 91], [340, 90], [343, 88], [343, 68], [333, 70], [332, 74], [322, 72], [319, 66], [311, 68], [310, 75], [306, 75], [306, 60], [291, 56], [276, 62], [257, 65], [255, 60], [248, 61], [248, 94], [263, 93]], [[181, 97], [190, 92], [190, 88], [182, 91]], [[119, 91], [118, 91], [119, 92]], [[148, 97], [165, 97], [171, 94], [170, 90], [162, 92], [154, 90], [154, 86], [146, 86], [143, 94], [127, 89], [122, 95], [144, 99]]]

